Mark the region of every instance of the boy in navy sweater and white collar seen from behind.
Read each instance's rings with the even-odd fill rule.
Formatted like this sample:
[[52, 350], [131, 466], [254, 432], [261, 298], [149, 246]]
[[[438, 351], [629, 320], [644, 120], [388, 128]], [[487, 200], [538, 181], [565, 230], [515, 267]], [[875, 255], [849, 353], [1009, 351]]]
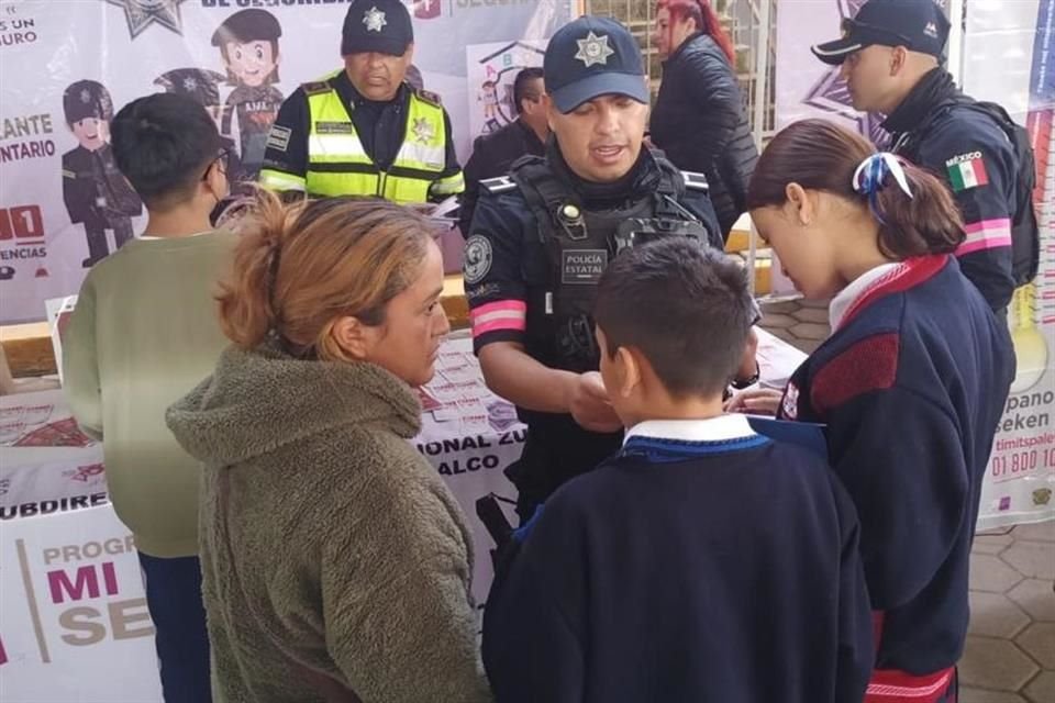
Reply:
[[818, 454], [724, 414], [754, 305], [669, 237], [599, 283], [622, 450], [515, 535], [484, 660], [500, 703], [858, 703], [871, 620], [849, 498]]

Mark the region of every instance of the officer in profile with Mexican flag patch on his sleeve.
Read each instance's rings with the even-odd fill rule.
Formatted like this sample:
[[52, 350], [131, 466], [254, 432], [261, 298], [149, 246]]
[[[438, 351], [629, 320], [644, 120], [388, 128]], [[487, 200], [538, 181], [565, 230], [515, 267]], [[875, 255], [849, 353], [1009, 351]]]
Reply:
[[896, 154], [948, 183], [967, 232], [956, 252], [960, 268], [999, 315], [1022, 282], [1012, 241], [1035, 247], [1032, 183], [1020, 175], [1023, 158], [1032, 157], [1017, 153], [1007, 113], [980, 109], [941, 66], [948, 31], [933, 0], [869, 0], [844, 20], [843, 38], [812, 51], [842, 65], [854, 108], [888, 115], [882, 126]]

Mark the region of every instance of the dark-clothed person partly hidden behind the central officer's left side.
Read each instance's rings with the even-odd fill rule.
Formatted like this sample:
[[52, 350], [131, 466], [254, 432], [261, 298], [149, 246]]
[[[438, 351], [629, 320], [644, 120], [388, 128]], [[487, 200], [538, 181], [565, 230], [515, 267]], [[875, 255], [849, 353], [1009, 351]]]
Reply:
[[522, 69], [513, 79], [513, 103], [517, 119], [490, 134], [481, 134], [473, 142], [473, 156], [465, 165], [465, 192], [458, 226], [462, 236], [469, 236], [476, 201], [480, 197], [480, 181], [504, 176], [509, 167], [521, 156], [545, 154], [549, 125], [546, 123], [546, 105], [542, 96], [546, 89], [542, 68], [532, 66]]

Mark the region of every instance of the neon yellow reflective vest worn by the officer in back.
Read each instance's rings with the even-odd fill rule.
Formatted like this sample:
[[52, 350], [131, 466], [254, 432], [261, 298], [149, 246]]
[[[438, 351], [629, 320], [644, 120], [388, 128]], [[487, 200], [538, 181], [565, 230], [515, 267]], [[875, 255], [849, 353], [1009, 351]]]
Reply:
[[[446, 161], [443, 109], [411, 93], [407, 131], [388, 171], [367, 156], [336, 90], [308, 96], [307, 190], [314, 196], [380, 196], [395, 202], [425, 202], [460, 192], [462, 175], [441, 179]], [[456, 190], [453, 188], [457, 188]]]

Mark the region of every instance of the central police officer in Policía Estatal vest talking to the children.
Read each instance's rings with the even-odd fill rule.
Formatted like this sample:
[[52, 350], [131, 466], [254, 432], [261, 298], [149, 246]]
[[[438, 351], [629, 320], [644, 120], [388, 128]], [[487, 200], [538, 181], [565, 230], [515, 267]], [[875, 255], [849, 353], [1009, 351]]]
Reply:
[[[642, 147], [648, 88], [622, 24], [585, 16], [565, 25], [544, 71], [546, 155], [482, 181], [464, 267], [487, 384], [529, 425], [523, 456], [507, 471], [522, 522], [620, 446], [590, 316], [608, 263], [659, 236], [722, 245], [703, 176]], [[748, 366], [742, 371], [755, 373], [753, 358]]]

